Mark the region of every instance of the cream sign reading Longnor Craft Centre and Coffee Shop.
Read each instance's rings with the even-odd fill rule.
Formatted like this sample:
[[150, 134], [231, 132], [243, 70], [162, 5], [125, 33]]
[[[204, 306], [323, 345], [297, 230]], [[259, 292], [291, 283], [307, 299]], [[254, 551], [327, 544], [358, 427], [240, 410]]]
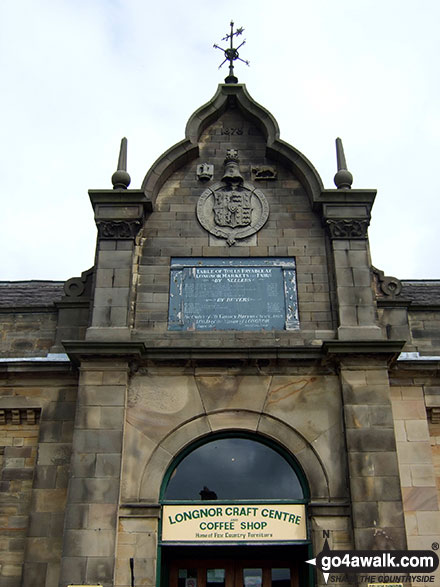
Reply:
[[164, 542], [306, 540], [303, 504], [165, 505]]

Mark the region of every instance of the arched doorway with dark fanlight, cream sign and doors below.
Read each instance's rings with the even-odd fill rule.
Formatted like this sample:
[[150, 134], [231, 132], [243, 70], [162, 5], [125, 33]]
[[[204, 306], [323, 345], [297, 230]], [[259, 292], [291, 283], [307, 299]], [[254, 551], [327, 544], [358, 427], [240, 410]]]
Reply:
[[265, 437], [193, 443], [162, 484], [162, 587], [312, 585], [308, 500], [295, 458]]

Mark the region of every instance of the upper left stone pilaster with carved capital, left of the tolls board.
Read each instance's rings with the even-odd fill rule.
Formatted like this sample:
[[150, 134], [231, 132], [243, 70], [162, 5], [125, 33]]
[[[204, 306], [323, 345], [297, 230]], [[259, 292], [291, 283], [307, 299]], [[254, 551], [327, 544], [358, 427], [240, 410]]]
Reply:
[[86, 338], [127, 340], [135, 238], [151, 204], [140, 190], [90, 190], [89, 195], [98, 242], [92, 318]]

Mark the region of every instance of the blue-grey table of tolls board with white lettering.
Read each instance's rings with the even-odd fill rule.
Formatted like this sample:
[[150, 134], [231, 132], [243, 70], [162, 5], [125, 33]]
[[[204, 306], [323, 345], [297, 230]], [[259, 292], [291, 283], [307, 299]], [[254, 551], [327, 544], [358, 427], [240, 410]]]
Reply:
[[169, 330], [298, 328], [294, 259], [172, 259]]

